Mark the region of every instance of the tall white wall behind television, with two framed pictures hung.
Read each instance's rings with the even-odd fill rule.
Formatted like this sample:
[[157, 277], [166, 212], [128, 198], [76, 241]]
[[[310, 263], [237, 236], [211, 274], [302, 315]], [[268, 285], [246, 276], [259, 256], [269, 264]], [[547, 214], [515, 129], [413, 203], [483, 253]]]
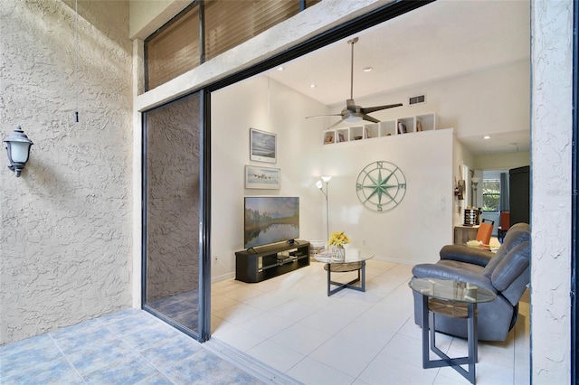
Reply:
[[[322, 239], [323, 195], [318, 123], [324, 108], [267, 76], [212, 94], [212, 276], [233, 277], [235, 251], [243, 249], [244, 196], [299, 196], [300, 239]], [[276, 164], [250, 161], [250, 127], [277, 135]], [[245, 189], [246, 164], [280, 168], [280, 190]]]

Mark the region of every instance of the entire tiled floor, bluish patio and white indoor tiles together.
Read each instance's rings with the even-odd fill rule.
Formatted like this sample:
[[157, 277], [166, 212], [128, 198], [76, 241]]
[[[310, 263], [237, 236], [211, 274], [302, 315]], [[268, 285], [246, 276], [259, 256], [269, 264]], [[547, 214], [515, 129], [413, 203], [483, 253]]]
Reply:
[[[259, 284], [228, 279], [212, 287], [208, 343], [129, 309], [0, 346], [0, 382], [468, 383], [451, 368], [422, 369], [410, 277], [409, 266], [370, 260], [365, 293], [346, 289], [330, 297], [318, 262]], [[528, 312], [525, 297], [508, 341], [479, 343], [479, 384], [529, 382]], [[466, 353], [461, 339], [439, 335], [437, 345]]]

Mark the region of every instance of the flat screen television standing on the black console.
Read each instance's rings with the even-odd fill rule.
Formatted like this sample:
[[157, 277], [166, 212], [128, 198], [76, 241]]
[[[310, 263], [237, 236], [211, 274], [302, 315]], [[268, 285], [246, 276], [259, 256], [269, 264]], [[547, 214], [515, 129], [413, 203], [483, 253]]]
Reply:
[[245, 197], [245, 249], [299, 238], [299, 197]]

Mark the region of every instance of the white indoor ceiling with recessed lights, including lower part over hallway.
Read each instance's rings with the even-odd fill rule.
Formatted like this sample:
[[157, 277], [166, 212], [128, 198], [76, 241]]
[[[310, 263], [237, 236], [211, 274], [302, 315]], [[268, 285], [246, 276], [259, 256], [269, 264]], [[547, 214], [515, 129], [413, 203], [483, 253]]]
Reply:
[[[529, 8], [524, 0], [439, 0], [356, 33], [354, 99], [530, 60]], [[290, 61], [284, 70], [272, 70], [271, 79], [338, 113], [350, 95], [346, 41], [352, 37]], [[373, 70], [364, 72], [365, 67]], [[461, 135], [460, 128], [457, 136], [474, 154], [528, 151], [530, 146], [527, 130], [484, 142], [479, 135]]]

